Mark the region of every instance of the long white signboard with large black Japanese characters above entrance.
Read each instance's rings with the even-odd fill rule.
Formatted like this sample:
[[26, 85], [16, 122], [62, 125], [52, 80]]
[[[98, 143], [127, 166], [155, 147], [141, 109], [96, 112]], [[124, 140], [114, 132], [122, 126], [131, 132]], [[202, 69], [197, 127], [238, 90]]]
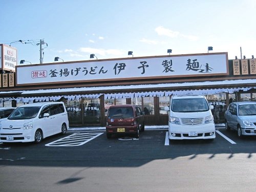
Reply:
[[228, 74], [227, 53], [155, 56], [17, 66], [16, 83], [67, 83]]

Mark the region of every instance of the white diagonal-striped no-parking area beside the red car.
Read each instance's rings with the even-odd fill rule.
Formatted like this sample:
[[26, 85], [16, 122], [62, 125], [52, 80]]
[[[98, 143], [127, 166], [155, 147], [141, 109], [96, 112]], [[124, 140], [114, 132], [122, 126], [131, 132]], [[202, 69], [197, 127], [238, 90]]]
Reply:
[[64, 137], [46, 144], [45, 146], [79, 146], [87, 143], [103, 133], [74, 133], [68, 137]]

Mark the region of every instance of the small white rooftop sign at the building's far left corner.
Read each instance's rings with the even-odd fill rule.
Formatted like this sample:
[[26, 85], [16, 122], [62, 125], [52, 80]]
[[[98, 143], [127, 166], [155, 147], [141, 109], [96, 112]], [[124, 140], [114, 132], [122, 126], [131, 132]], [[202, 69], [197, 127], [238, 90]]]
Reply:
[[3, 48], [3, 69], [15, 72], [15, 66], [17, 66], [17, 50], [7, 45], [4, 45]]

